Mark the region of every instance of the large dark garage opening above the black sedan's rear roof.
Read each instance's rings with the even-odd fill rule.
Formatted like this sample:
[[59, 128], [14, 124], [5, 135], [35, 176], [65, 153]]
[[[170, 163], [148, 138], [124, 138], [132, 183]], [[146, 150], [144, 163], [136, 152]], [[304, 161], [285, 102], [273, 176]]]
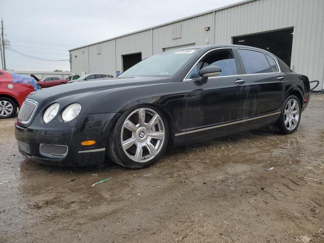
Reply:
[[233, 44], [269, 51], [290, 66], [294, 28], [233, 37]]

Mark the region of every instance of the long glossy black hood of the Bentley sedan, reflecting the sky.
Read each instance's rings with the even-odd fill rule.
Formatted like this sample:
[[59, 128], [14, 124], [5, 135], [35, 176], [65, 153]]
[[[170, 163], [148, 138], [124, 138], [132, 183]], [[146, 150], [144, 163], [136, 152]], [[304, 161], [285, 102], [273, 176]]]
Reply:
[[[108, 90], [113, 88], [151, 85], [168, 83], [170, 77], [156, 77], [156, 76], [136, 76], [136, 77], [115, 77], [100, 80], [89, 80], [88, 82], [73, 82], [66, 85], [54, 86], [47, 89], [42, 89], [35, 92], [30, 98], [37, 99], [44, 97], [45, 93], [52, 96], [54, 100], [82, 93], [98, 92], [101, 90]], [[37, 94], [38, 93], [38, 94]]]

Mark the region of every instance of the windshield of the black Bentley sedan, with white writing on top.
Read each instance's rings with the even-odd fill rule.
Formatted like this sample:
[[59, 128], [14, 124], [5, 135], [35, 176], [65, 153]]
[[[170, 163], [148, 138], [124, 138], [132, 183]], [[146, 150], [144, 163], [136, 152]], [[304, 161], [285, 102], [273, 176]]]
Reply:
[[198, 50], [199, 49], [174, 50], [151, 56], [121, 73], [119, 77], [141, 75], [173, 75], [186, 62], [188, 62]]

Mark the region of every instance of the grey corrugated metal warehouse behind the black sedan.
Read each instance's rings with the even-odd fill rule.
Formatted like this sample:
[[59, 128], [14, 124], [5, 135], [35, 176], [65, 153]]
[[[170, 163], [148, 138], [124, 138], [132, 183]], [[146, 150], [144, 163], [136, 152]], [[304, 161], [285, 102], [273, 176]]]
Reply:
[[149, 56], [239, 44], [277, 55], [324, 89], [324, 1], [248, 0], [70, 50], [71, 71], [116, 75]]

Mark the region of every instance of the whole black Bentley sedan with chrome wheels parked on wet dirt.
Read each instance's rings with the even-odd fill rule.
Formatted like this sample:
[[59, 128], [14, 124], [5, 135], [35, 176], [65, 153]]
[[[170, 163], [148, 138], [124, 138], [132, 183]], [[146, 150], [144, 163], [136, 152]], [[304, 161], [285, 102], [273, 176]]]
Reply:
[[54, 166], [144, 168], [167, 147], [271, 125], [293, 133], [310, 98], [307, 76], [273, 54], [236, 45], [151, 56], [109, 82], [30, 94], [15, 129], [19, 151]]

